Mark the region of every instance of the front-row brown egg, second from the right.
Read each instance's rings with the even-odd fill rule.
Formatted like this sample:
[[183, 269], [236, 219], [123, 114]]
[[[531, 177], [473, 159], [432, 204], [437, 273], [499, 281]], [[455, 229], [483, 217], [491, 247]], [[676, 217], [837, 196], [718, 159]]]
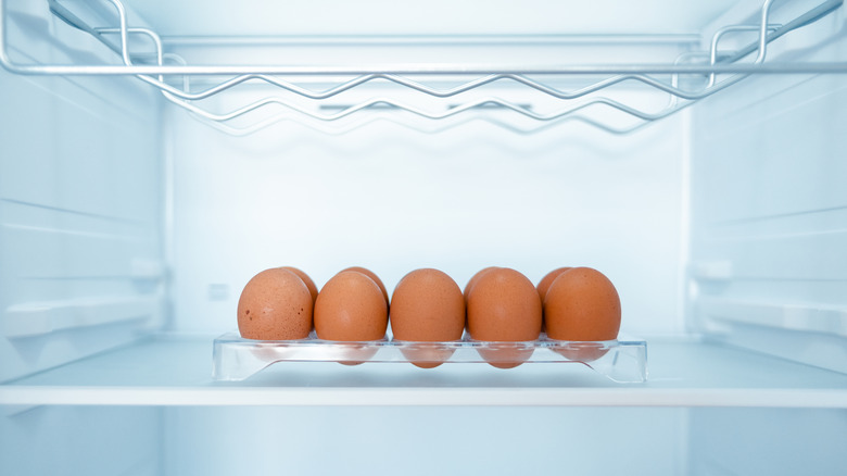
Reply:
[[468, 293], [468, 331], [475, 340], [524, 342], [516, 346], [480, 348], [491, 365], [510, 368], [533, 352], [541, 333], [541, 300], [532, 281], [515, 270], [501, 267], [484, 273]]

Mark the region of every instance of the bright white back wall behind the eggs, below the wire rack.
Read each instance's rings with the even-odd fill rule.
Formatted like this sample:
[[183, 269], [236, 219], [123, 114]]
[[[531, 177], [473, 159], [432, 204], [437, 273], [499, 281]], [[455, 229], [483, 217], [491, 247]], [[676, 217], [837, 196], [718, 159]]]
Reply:
[[684, 116], [614, 137], [579, 123], [518, 134], [477, 121], [420, 133], [389, 122], [327, 135], [294, 122], [230, 137], [168, 110], [175, 329], [231, 330], [255, 273], [323, 286], [372, 270], [389, 292], [435, 267], [464, 288], [514, 267], [565, 265], [617, 285], [624, 333], [679, 334]]

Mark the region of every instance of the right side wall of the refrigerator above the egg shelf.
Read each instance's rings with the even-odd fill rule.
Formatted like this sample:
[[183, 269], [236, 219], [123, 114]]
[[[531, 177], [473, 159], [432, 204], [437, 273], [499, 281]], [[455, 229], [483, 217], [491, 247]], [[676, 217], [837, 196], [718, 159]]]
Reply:
[[[843, 25], [826, 18], [783, 54], [844, 59]], [[695, 112], [693, 326], [847, 372], [844, 76], [751, 77]]]

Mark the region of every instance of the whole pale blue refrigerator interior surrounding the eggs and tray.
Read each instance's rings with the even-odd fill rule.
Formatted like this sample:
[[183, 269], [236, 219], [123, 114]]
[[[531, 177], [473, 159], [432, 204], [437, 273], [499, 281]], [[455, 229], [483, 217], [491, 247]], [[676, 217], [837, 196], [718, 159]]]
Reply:
[[[172, 66], [532, 72], [701, 64], [693, 51], [762, 9], [701, 3], [126, 7]], [[186, 102], [126, 74], [25, 71], [127, 68], [97, 38], [119, 37], [113, 2], [3, 0], [0, 474], [845, 473], [845, 14], [776, 1], [769, 24], [819, 3], [768, 45], [775, 74], [691, 103], [634, 78], [572, 100], [515, 77], [434, 98], [396, 80], [444, 91], [482, 73], [380, 76], [318, 100], [253, 78]], [[131, 36], [132, 61], [156, 62], [151, 35]], [[756, 38], [728, 33], [720, 52]], [[573, 91], [612, 75], [517, 77]], [[327, 91], [361, 76], [274, 77]], [[268, 97], [285, 104], [208, 117]], [[477, 107], [451, 113], [462, 104]], [[644, 121], [610, 104], [680, 109]], [[464, 287], [490, 265], [533, 283], [592, 266], [621, 296], [621, 335], [647, 341], [649, 376], [285, 362], [214, 381], [241, 289], [280, 265], [318, 286], [362, 265], [389, 290], [419, 267]]]

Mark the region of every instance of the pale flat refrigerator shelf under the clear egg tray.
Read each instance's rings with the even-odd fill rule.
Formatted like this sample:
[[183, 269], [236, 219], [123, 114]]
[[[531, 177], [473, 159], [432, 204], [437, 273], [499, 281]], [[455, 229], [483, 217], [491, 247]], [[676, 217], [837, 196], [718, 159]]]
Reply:
[[31, 405], [847, 409], [845, 374], [697, 338], [649, 338], [649, 379], [639, 384], [614, 383], [562, 362], [509, 369], [464, 362], [438, 368], [286, 362], [241, 381], [219, 381], [212, 378], [214, 339], [150, 337], [7, 381], [0, 406], [4, 413]]

